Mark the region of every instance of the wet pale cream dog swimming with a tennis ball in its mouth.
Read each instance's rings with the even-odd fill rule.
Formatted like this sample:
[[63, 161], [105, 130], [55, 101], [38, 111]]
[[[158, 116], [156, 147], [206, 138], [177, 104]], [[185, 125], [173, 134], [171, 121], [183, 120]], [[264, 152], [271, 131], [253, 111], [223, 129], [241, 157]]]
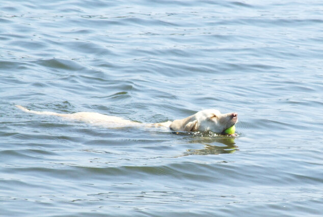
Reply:
[[183, 119], [176, 119], [173, 122], [168, 121], [164, 123], [156, 124], [142, 124], [132, 122], [131, 120], [125, 120], [121, 117], [109, 116], [99, 114], [95, 112], [77, 112], [73, 114], [60, 114], [49, 111], [33, 111], [26, 109], [22, 106], [16, 105], [19, 109], [41, 115], [55, 115], [70, 119], [82, 120], [92, 124], [109, 125], [114, 127], [126, 127], [126, 126], [147, 126], [147, 127], [167, 127], [173, 131], [212, 131], [214, 133], [223, 133], [223, 131], [229, 127], [232, 127], [238, 122], [238, 114], [226, 113], [221, 114], [216, 109], [207, 109], [199, 111], [189, 117]]

